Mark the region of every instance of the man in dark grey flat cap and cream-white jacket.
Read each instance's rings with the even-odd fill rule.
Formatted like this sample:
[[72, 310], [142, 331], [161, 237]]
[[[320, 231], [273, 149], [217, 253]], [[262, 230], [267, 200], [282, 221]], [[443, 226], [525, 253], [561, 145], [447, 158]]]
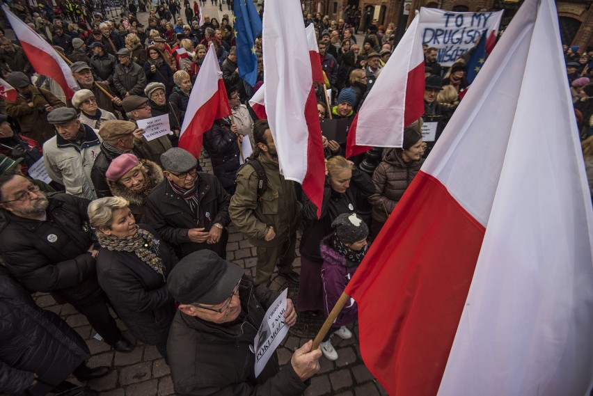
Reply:
[[101, 141], [93, 128], [78, 119], [76, 110], [60, 107], [47, 116], [56, 136], [43, 144], [43, 162], [49, 177], [62, 184], [72, 196], [97, 198], [90, 170], [101, 151]]

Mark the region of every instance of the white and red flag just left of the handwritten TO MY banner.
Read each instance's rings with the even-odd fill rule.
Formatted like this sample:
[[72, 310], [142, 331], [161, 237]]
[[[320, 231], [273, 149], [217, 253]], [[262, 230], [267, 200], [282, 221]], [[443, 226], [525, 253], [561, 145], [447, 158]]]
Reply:
[[346, 157], [402, 147], [404, 128], [424, 114], [424, 53], [418, 15], [395, 47], [348, 132]]

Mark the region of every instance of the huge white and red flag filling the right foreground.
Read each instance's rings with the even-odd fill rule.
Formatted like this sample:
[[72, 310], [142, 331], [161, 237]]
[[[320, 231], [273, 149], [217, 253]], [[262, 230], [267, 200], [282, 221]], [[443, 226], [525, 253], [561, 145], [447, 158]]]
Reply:
[[565, 77], [554, 1], [526, 0], [347, 286], [389, 395], [590, 394], [593, 212]]

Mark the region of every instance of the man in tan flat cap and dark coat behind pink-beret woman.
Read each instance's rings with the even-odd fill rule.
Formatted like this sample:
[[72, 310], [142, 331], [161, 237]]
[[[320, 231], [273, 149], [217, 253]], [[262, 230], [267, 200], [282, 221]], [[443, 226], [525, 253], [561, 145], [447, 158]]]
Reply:
[[122, 154], [133, 154], [138, 158], [145, 158], [141, 145], [134, 144], [141, 143], [142, 132], [143, 129], [139, 129], [131, 121], [109, 120], [101, 124], [99, 128], [99, 136], [103, 139], [101, 152], [97, 155], [90, 171], [97, 198], [111, 196], [105, 173], [113, 159]]

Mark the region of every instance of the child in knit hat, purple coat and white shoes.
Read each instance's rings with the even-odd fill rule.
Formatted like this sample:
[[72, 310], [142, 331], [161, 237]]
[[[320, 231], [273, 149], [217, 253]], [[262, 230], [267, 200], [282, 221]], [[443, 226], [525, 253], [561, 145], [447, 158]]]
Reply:
[[[338, 302], [354, 271], [361, 264], [367, 253], [367, 237], [369, 229], [356, 213], [344, 213], [336, 217], [332, 228], [335, 231], [321, 241], [320, 251], [324, 260], [322, 265], [323, 306], [325, 315]], [[352, 337], [346, 324], [356, 320], [358, 307], [356, 301], [350, 299], [333, 322], [330, 331], [321, 343], [321, 350], [330, 361], [338, 359], [338, 352], [331, 344], [331, 335], [347, 339]]]

